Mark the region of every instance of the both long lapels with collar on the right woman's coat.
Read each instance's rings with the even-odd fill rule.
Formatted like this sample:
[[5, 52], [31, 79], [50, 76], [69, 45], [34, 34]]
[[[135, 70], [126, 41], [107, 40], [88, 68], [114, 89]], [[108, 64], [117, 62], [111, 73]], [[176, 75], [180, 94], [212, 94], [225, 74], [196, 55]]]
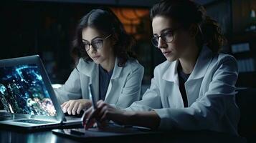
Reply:
[[[194, 70], [192, 71], [189, 79], [185, 83], [186, 95], [189, 106], [198, 98], [199, 90], [202, 86], [202, 79], [207, 72], [211, 61], [212, 51], [207, 46], [204, 46], [199, 54], [199, 58], [196, 61]], [[179, 91], [179, 75], [177, 72], [178, 64], [178, 60], [173, 61], [173, 63], [170, 62], [169, 69], [166, 70], [162, 77], [163, 80], [166, 80], [167, 86], [163, 88], [164, 90], [166, 90], [166, 92], [169, 91], [167, 92], [169, 93], [169, 100], [167, 101], [171, 102], [174, 108], [184, 107], [181, 92]]]

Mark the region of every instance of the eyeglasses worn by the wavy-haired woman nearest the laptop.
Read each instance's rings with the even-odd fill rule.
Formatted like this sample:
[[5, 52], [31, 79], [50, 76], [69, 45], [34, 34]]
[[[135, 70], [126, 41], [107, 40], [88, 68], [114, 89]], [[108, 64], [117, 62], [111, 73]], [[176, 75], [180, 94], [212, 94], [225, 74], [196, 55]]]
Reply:
[[90, 44], [90, 42], [89, 41], [82, 41], [82, 46], [84, 46], [84, 48], [85, 48], [85, 51], [89, 51], [89, 49], [90, 49], [90, 45], [92, 45], [93, 46], [93, 49], [100, 49], [100, 48], [102, 48], [103, 47], [103, 41], [105, 40], [105, 39], [108, 39], [108, 37], [110, 37], [111, 36], [111, 34], [110, 35], [108, 35], [108, 36], [106, 36], [104, 39], [95, 39], [95, 40], [92, 40], [92, 43]]

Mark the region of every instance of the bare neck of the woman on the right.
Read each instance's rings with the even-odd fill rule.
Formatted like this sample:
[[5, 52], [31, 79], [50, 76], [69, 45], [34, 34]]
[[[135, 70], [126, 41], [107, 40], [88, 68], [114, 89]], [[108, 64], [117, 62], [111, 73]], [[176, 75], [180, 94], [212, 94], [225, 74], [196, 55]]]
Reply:
[[199, 56], [199, 47], [189, 47], [189, 51], [186, 52], [184, 56], [179, 59], [181, 63], [182, 71], [185, 74], [191, 74], [196, 64], [196, 60]]

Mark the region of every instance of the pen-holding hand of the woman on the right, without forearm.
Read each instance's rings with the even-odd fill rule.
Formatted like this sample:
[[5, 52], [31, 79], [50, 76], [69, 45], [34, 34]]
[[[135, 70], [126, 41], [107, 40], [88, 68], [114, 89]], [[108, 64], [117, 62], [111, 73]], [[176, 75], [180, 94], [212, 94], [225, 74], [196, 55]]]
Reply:
[[118, 124], [125, 124], [127, 117], [124, 114], [124, 111], [111, 107], [109, 104], [100, 100], [97, 102], [97, 108], [87, 109], [82, 119], [83, 126], [85, 129], [93, 127], [95, 122], [98, 122], [100, 126], [104, 126], [109, 120], [113, 120]]

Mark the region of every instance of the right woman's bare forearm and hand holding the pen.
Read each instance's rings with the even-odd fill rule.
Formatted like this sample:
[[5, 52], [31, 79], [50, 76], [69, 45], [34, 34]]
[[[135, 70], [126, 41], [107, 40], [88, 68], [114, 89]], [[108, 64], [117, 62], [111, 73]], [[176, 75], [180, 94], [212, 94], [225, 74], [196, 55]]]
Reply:
[[82, 119], [85, 129], [93, 127], [95, 122], [103, 127], [106, 122], [112, 120], [115, 123], [123, 125], [135, 125], [141, 127], [148, 127], [150, 129], [157, 129], [160, 124], [160, 117], [155, 111], [149, 112], [128, 112], [120, 109], [115, 109], [102, 100], [97, 102], [97, 108], [87, 109]]

